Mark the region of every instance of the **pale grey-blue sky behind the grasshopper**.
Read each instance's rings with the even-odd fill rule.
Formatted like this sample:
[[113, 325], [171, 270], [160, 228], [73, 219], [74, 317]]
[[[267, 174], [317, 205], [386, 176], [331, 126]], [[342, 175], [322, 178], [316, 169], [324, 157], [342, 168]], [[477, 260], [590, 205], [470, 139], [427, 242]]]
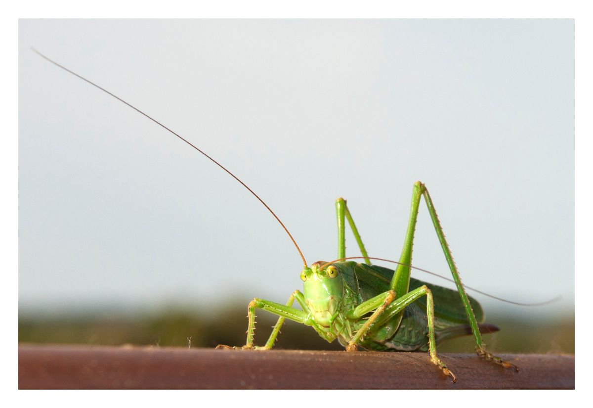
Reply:
[[[34, 46], [234, 171], [308, 263], [336, 257], [339, 196], [369, 254], [397, 260], [422, 180], [464, 283], [563, 297], [476, 295], [486, 310], [573, 311], [572, 20], [21, 20], [19, 40], [24, 309], [302, 287], [297, 251], [243, 187]], [[416, 237], [413, 264], [449, 276], [424, 204]]]

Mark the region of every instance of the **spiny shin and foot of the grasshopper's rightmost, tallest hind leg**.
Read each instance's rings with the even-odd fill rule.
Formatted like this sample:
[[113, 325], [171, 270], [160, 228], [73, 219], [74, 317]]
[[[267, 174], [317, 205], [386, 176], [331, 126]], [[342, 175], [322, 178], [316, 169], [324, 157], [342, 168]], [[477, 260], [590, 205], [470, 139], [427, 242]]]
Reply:
[[492, 361], [496, 364], [502, 365], [504, 368], [512, 368], [515, 371], [519, 371], [516, 365], [504, 361], [502, 358], [497, 357], [492, 353], [486, 351], [486, 345], [484, 345], [482, 342], [482, 334], [480, 334], [480, 329], [476, 321], [476, 315], [474, 314], [474, 311], [471, 308], [470, 301], [467, 298], [466, 289], [463, 287], [463, 283], [461, 283], [461, 278], [459, 276], [459, 272], [457, 271], [457, 266], [455, 265], [455, 262], [453, 260], [449, 244], [447, 243], [447, 240], [445, 240], [445, 234], [441, 227], [441, 222], [439, 221], [439, 218], [436, 215], [436, 210], [434, 205], [432, 204], [431, 196], [429, 195], [428, 190], [426, 189], [424, 184], [420, 183], [419, 181], [417, 181], [416, 184], [420, 184], [422, 194], [426, 202], [426, 206], [428, 207], [428, 212], [431, 215], [432, 224], [435, 227], [436, 235], [438, 236], [439, 243], [441, 243], [441, 247], [443, 249], [443, 252], [445, 253], [445, 258], [447, 259], [447, 263], [449, 265], [449, 269], [451, 270], [453, 280], [455, 280], [455, 286], [457, 286], [457, 291], [459, 292], [461, 302], [463, 302], [463, 307], [466, 310], [467, 320], [470, 323], [471, 332], [473, 333], [474, 342], [476, 343], [477, 355], [488, 361]]

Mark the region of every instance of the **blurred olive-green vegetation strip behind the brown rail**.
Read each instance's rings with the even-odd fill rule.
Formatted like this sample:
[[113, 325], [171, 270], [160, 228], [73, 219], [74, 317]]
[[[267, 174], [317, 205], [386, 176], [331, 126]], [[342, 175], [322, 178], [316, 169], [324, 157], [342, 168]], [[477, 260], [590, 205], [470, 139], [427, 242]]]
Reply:
[[[240, 346], [247, 330], [244, 305], [219, 310], [216, 318], [189, 308], [163, 308], [157, 313], [129, 314], [95, 311], [79, 314], [21, 314], [18, 322], [20, 343], [68, 343], [85, 345], [154, 345], [215, 347]], [[203, 312], [203, 310], [202, 310]], [[276, 319], [266, 313], [257, 317], [256, 343], [263, 345]], [[522, 320], [508, 315], [489, 314], [489, 323], [500, 332], [486, 334], [489, 350], [506, 353], [574, 353], [573, 315], [553, 320]], [[338, 342], [327, 343], [311, 327], [286, 321], [277, 348], [303, 350], [343, 350]], [[473, 352], [471, 336], [448, 340], [439, 352]]]

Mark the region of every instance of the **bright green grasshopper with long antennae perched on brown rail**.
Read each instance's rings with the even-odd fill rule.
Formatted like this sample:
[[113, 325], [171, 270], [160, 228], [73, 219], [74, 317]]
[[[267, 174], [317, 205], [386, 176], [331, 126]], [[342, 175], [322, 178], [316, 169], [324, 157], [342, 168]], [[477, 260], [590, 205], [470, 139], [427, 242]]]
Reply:
[[[498, 328], [489, 324], [480, 324], [484, 321], [482, 307], [476, 299], [468, 297], [466, 294], [425, 184], [420, 181], [414, 184], [412, 210], [410, 211], [406, 238], [400, 259], [397, 262], [368, 256], [346, 205], [346, 200], [339, 198], [336, 200], [337, 259], [331, 262], [315, 262], [308, 266], [297, 242], [278, 216], [231, 171], [148, 114], [36, 50], [33, 49], [33, 51], [65, 71], [122, 101], [195, 148], [249, 190], [282, 225], [301, 256], [303, 269], [300, 272], [300, 277], [304, 290], [303, 292], [294, 291], [286, 304], [254, 298], [248, 305], [247, 342], [242, 349], [272, 349], [280, 327], [288, 318], [313, 327], [328, 342], [337, 339], [340, 344], [345, 346], [347, 352], [353, 352], [358, 348], [380, 351], [428, 350], [433, 364], [438, 366], [445, 375], [451, 377], [453, 382], [456, 381], [455, 375], [437, 355], [436, 345], [451, 337], [471, 333], [476, 345], [476, 352], [481, 358], [518, 371], [517, 366], [488, 352], [482, 342], [481, 333], [495, 332]], [[457, 292], [410, 277], [412, 269], [419, 269], [412, 266], [412, 247], [422, 197], [428, 206], [436, 235], [441, 243], [445, 259], [447, 259], [453, 281], [457, 286]], [[352, 229], [362, 257], [346, 257], [346, 221]], [[352, 259], [364, 259], [365, 263], [356, 263]], [[393, 262], [397, 264], [397, 267], [395, 270], [391, 270], [375, 266], [371, 264], [371, 260]], [[425, 302], [423, 302], [424, 297], [426, 297]], [[292, 307], [295, 300], [302, 310]], [[256, 309], [266, 310], [279, 316], [272, 334], [262, 347], [253, 344]], [[219, 345], [218, 348], [231, 347]]]

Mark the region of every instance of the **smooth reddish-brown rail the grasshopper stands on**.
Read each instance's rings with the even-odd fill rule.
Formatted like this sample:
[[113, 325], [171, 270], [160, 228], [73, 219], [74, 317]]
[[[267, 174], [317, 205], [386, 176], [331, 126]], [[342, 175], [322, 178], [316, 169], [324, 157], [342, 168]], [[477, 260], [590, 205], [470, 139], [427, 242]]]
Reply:
[[501, 355], [514, 372], [473, 354], [37, 346], [18, 350], [25, 388], [574, 388], [573, 355]]

